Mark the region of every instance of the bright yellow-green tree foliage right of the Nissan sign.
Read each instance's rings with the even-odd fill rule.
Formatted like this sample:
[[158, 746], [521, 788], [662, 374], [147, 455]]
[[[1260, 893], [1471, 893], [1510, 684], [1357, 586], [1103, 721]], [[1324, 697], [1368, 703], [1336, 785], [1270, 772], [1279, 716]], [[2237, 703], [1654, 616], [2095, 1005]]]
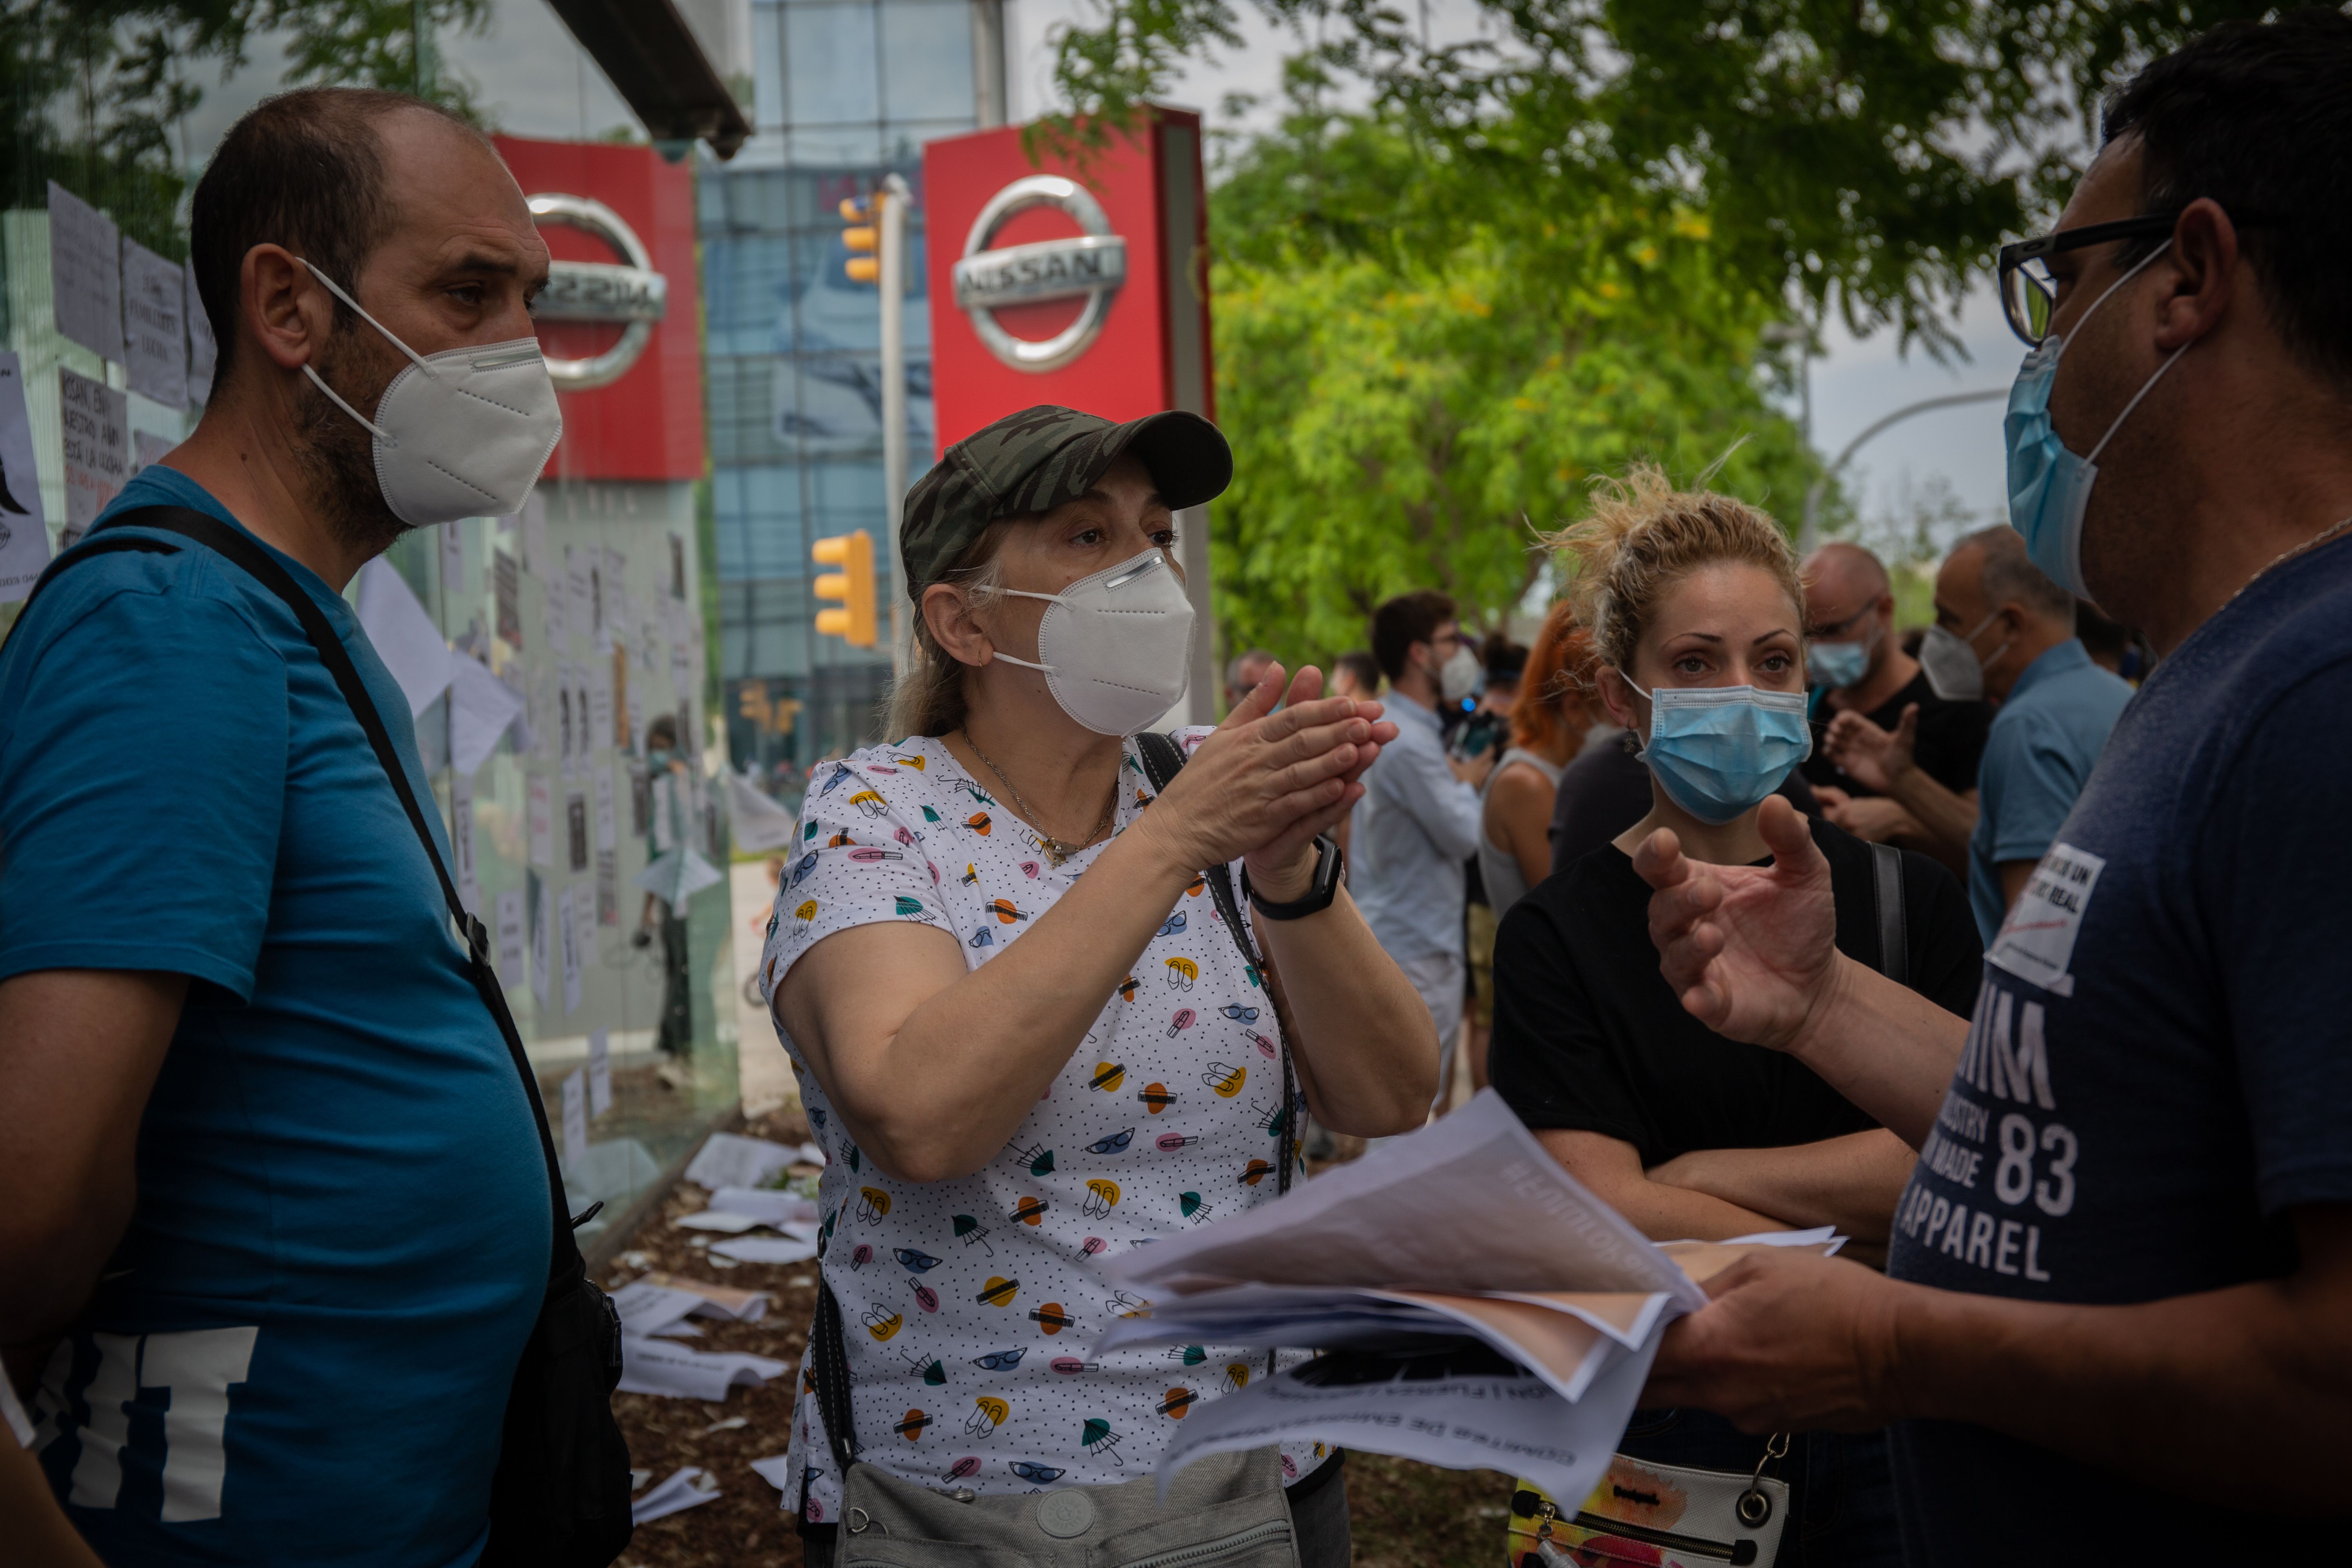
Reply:
[[1214, 195], [1232, 649], [1322, 663], [1364, 644], [1374, 604], [1432, 585], [1494, 625], [1536, 583], [1536, 534], [1637, 456], [1696, 477], [1731, 451], [1715, 484], [1795, 515], [1816, 468], [1759, 374], [1776, 301], [1736, 282], [1703, 214], [1461, 212], [1442, 155], [1395, 115], [1315, 110], [1315, 78], [1294, 73], [1294, 113]]

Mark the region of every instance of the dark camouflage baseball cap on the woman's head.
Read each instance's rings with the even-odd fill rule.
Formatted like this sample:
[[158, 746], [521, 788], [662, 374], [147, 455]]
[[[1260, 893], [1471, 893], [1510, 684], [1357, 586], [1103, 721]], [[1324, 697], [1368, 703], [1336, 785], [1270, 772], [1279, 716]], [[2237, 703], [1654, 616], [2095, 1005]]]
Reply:
[[1127, 454], [1143, 461], [1171, 508], [1232, 484], [1232, 447], [1200, 414], [1169, 409], [1124, 425], [1049, 402], [1007, 414], [948, 447], [906, 494], [898, 557], [908, 597], [922, 599], [997, 517], [1077, 501]]

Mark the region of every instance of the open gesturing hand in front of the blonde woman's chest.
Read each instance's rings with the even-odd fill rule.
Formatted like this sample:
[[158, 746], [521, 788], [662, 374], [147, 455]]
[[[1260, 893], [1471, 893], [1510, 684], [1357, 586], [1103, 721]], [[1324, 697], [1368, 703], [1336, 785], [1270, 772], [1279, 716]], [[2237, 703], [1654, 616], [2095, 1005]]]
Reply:
[[1813, 832], [1778, 795], [1757, 811], [1771, 865], [1703, 865], [1670, 827], [1632, 867], [1658, 889], [1649, 940], [1658, 969], [1698, 1023], [1729, 1039], [1788, 1051], [1837, 976], [1837, 903]]

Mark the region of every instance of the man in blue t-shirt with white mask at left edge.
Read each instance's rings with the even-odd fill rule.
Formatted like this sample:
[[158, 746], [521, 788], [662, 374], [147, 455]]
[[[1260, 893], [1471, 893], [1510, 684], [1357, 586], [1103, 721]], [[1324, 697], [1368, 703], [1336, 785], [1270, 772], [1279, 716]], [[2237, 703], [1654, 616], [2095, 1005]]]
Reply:
[[[548, 249], [473, 127], [303, 89], [214, 150], [191, 266], [202, 421], [0, 649], [0, 1342], [111, 1563], [470, 1563], [555, 1194], [343, 588], [522, 505], [562, 428]], [[148, 508], [292, 581], [388, 764], [294, 609]]]

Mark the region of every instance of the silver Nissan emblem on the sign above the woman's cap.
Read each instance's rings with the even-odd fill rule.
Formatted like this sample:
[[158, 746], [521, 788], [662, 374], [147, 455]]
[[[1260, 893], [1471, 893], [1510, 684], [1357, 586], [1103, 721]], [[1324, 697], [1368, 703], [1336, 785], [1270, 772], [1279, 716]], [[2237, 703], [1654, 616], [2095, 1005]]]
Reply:
[[[1070, 240], [1037, 240], [988, 249], [997, 230], [1030, 207], [1061, 207], [1084, 230]], [[988, 197], [981, 216], [964, 235], [964, 256], [950, 273], [955, 306], [971, 317], [981, 343], [1004, 364], [1025, 371], [1056, 371], [1077, 360], [1103, 331], [1110, 296], [1127, 282], [1127, 240], [1110, 233], [1110, 219], [1094, 193], [1058, 174], [1030, 174]], [[997, 324], [1004, 306], [1033, 306], [1047, 299], [1084, 299], [1077, 320], [1037, 343], [1016, 339]]]

